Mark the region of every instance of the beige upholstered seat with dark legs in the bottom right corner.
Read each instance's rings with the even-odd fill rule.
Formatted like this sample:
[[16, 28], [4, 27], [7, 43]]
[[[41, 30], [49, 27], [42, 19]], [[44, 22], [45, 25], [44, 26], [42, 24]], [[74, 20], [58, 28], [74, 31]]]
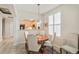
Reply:
[[66, 53], [77, 53], [79, 49], [79, 35], [75, 33], [66, 34], [64, 36], [65, 45], [62, 46], [62, 50]]

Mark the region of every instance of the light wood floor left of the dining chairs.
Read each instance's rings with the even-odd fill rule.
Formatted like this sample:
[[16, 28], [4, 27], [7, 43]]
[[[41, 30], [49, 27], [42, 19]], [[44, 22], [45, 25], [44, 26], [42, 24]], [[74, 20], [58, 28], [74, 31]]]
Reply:
[[25, 44], [14, 45], [14, 39], [4, 39], [0, 42], [0, 54], [25, 54]]

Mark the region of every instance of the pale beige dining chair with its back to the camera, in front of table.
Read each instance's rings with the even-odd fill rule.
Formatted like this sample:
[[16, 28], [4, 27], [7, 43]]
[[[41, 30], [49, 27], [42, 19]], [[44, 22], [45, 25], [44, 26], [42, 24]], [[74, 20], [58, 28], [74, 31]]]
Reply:
[[27, 35], [27, 46], [28, 53], [39, 53], [41, 44], [38, 44], [36, 35]]

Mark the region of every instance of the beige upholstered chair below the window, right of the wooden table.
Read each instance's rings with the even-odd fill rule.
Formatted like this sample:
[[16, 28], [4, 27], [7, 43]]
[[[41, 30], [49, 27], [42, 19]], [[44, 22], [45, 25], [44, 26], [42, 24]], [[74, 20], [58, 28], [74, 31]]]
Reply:
[[64, 40], [61, 37], [56, 37], [52, 42], [53, 51], [61, 53], [61, 47], [64, 45]]

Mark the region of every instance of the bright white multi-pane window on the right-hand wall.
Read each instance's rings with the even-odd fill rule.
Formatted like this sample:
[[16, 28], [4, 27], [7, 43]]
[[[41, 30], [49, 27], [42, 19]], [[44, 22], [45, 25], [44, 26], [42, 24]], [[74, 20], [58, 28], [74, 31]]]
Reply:
[[56, 36], [61, 35], [61, 13], [55, 13], [49, 16], [49, 34], [56, 33]]

